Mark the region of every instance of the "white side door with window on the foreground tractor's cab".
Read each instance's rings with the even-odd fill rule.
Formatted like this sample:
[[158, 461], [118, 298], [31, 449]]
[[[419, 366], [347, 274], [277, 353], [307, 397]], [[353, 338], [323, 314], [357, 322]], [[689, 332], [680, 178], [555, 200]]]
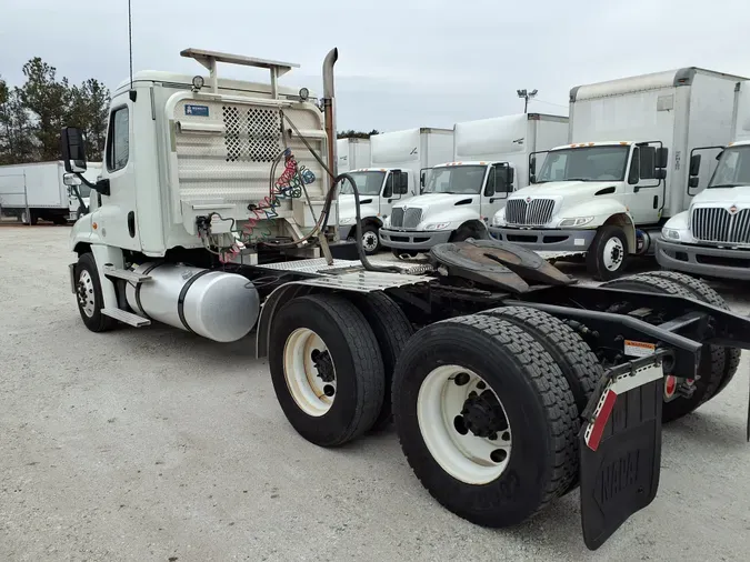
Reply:
[[140, 250], [136, 217], [133, 106], [127, 94], [112, 100], [104, 147], [100, 205], [94, 222], [104, 242], [128, 250]]

